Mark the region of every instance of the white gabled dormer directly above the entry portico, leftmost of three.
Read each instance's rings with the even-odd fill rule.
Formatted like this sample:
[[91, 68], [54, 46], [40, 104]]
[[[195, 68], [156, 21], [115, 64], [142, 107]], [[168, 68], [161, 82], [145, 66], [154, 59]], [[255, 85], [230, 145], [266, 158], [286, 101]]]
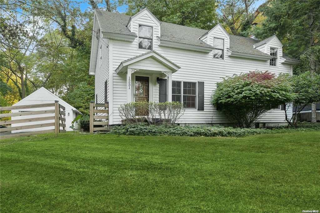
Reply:
[[143, 9], [132, 16], [127, 27], [132, 33], [138, 35], [137, 48], [140, 50], [153, 50], [160, 37], [161, 22], [147, 9]]

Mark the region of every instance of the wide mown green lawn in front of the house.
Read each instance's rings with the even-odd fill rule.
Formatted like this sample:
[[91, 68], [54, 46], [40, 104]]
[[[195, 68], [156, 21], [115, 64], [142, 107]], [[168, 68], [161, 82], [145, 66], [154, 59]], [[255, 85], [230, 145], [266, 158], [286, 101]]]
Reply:
[[1, 141], [5, 212], [320, 210], [320, 131]]

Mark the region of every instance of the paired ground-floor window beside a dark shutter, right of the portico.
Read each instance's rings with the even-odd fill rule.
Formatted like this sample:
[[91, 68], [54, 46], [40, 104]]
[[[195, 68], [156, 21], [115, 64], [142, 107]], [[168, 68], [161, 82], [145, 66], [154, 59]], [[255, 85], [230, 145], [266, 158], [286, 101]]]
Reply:
[[196, 82], [172, 81], [172, 101], [181, 103], [182, 98], [185, 108], [196, 108], [196, 86]]

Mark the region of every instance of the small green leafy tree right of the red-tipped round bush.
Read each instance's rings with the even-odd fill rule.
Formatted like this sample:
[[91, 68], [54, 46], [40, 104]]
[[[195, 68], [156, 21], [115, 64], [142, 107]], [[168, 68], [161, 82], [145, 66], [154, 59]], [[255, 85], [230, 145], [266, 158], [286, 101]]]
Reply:
[[[311, 103], [320, 102], [320, 75], [310, 72], [292, 76], [293, 92], [295, 94], [293, 104], [288, 103], [285, 109], [285, 120], [288, 126], [297, 127], [300, 112]], [[292, 117], [289, 118], [287, 111], [293, 106]]]

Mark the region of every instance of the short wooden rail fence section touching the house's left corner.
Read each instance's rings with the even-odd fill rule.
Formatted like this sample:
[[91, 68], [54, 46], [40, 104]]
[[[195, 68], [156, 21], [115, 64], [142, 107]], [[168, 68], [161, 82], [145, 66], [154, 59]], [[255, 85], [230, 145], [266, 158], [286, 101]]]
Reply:
[[[98, 109], [99, 107], [99, 109]], [[104, 109], [100, 109], [104, 108]], [[99, 115], [97, 115], [99, 113]], [[104, 115], [101, 115], [104, 114]], [[106, 121], [94, 121], [94, 120], [106, 120]], [[94, 127], [94, 125], [103, 125], [104, 127]], [[95, 104], [90, 103], [90, 134], [93, 131], [109, 130], [109, 104]]]

